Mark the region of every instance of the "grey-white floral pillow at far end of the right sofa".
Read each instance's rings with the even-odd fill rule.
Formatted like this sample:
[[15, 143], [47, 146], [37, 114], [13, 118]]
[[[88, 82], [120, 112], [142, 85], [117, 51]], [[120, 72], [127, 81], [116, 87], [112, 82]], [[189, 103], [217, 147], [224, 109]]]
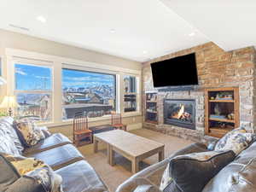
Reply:
[[245, 129], [238, 128], [224, 135], [215, 145], [214, 150], [232, 150], [237, 155], [247, 148], [252, 141], [252, 133], [247, 133]]

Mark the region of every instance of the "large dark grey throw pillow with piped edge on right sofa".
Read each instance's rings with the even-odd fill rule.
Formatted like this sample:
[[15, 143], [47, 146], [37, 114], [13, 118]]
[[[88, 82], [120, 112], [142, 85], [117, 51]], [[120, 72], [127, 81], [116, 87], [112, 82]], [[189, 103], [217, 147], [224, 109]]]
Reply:
[[[172, 158], [167, 167], [169, 171], [166, 172], [169, 172], [169, 177], [167, 177], [168, 182], [165, 186], [172, 191], [201, 192], [210, 179], [235, 157], [235, 153], [231, 150], [176, 156]], [[166, 191], [162, 186], [160, 188]]]

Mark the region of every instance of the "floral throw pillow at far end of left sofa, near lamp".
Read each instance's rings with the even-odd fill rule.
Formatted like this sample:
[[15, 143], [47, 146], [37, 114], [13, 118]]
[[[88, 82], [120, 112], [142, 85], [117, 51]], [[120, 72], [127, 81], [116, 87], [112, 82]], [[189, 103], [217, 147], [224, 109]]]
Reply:
[[42, 131], [36, 129], [35, 123], [31, 120], [17, 120], [14, 125], [20, 140], [27, 148], [32, 147], [44, 139]]

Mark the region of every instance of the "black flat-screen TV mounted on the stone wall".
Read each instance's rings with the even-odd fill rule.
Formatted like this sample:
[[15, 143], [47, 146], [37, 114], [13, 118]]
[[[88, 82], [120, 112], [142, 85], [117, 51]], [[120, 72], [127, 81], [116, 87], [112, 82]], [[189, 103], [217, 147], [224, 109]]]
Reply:
[[195, 53], [151, 63], [154, 87], [198, 84]]

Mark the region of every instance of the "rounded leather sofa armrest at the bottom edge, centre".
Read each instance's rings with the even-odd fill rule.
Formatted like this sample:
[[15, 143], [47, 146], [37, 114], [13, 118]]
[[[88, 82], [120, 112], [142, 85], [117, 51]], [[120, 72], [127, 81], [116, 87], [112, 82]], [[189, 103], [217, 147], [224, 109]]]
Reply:
[[116, 192], [161, 192], [159, 187], [148, 179], [136, 177], [119, 185]]

